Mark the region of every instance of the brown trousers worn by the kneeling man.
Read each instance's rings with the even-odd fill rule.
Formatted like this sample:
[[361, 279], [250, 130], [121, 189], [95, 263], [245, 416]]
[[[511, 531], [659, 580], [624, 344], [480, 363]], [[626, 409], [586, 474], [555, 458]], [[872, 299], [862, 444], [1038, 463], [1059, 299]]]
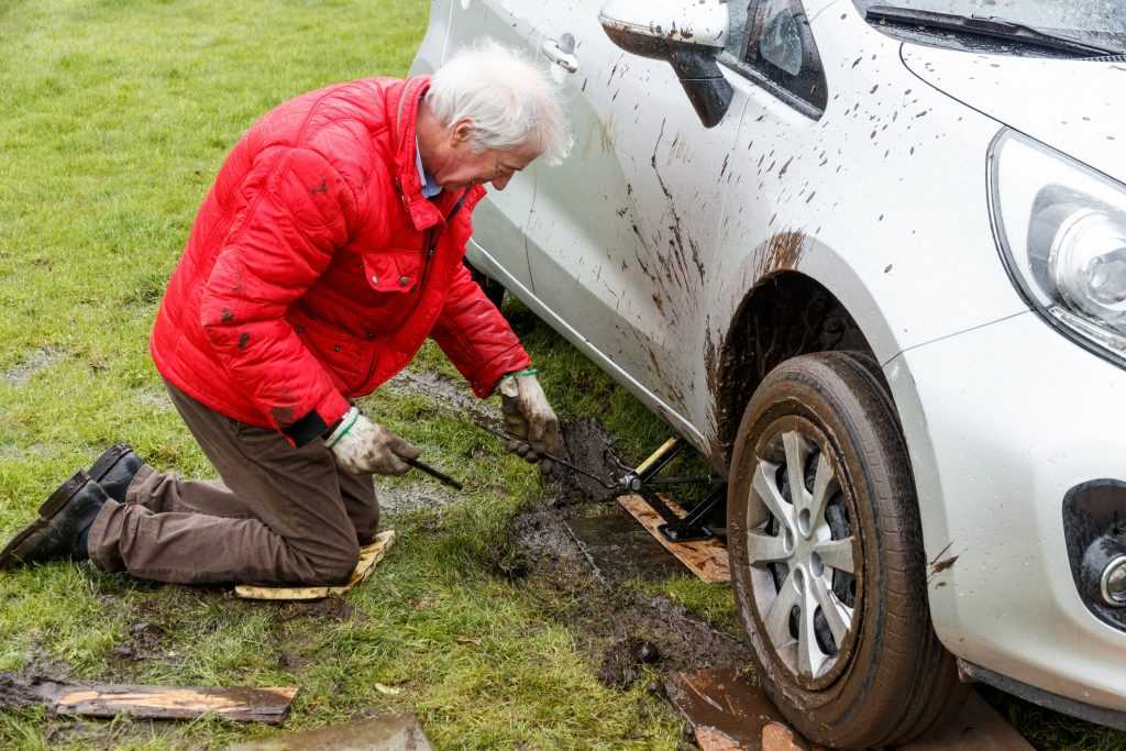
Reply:
[[321, 440], [294, 448], [167, 385], [223, 482], [143, 466], [125, 503], [106, 501], [90, 527], [90, 560], [178, 583], [347, 580], [379, 524], [372, 476], [338, 468]]

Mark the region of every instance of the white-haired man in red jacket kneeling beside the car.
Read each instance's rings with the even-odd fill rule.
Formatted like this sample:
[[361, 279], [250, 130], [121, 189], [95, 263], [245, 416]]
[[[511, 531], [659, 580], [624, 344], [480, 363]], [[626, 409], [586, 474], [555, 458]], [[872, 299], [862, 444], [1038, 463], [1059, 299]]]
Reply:
[[525, 458], [558, 450], [530, 359], [462, 257], [483, 184], [501, 190], [569, 147], [549, 79], [494, 44], [432, 79], [352, 81], [267, 114], [207, 194], [151, 341], [223, 483], [115, 446], [47, 499], [0, 567], [89, 557], [167, 582], [346, 580], [378, 526], [372, 474], [419, 454], [350, 400], [427, 337], [479, 396], [500, 384]]

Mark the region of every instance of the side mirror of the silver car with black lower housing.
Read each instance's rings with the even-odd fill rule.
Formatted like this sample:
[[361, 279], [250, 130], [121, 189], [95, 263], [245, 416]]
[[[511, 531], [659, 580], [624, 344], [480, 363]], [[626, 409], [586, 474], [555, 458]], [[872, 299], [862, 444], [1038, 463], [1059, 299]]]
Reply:
[[610, 0], [598, 15], [617, 46], [672, 65], [704, 127], [715, 127], [733, 90], [716, 57], [727, 36], [722, 0]]

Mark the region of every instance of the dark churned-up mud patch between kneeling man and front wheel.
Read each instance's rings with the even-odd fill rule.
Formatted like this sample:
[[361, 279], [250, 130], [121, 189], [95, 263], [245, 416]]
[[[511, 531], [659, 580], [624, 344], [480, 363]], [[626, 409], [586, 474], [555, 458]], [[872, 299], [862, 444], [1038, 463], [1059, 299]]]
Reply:
[[[592, 474], [616, 477], [629, 466], [597, 420], [564, 426], [564, 438], [571, 461]], [[685, 570], [646, 534], [632, 534], [638, 527], [613, 494], [574, 474], [563, 474], [554, 489], [512, 520], [510, 546], [498, 569], [566, 596], [558, 601], [569, 605], [552, 615], [600, 663], [604, 685], [628, 688], [646, 664], [661, 671], [749, 664], [749, 649], [740, 640], [667, 597], [628, 585], [634, 578], [659, 580]], [[593, 534], [600, 554], [592, 561], [583, 548], [597, 529], [605, 531]]]

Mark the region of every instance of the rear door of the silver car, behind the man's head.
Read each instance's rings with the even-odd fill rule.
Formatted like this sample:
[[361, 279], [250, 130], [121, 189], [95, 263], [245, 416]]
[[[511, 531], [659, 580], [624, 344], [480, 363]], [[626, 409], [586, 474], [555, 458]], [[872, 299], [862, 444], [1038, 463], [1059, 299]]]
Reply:
[[[449, 14], [441, 62], [459, 48], [477, 44], [485, 37], [522, 50], [530, 57], [535, 54], [530, 38], [533, 29], [522, 17], [525, 7], [526, 3], [518, 0], [449, 0], [448, 8], [436, 3], [434, 12]], [[531, 283], [525, 227], [534, 195], [533, 177], [517, 175], [504, 190], [490, 189], [473, 212], [473, 240], [466, 257], [507, 286], [516, 281], [527, 287]]]

